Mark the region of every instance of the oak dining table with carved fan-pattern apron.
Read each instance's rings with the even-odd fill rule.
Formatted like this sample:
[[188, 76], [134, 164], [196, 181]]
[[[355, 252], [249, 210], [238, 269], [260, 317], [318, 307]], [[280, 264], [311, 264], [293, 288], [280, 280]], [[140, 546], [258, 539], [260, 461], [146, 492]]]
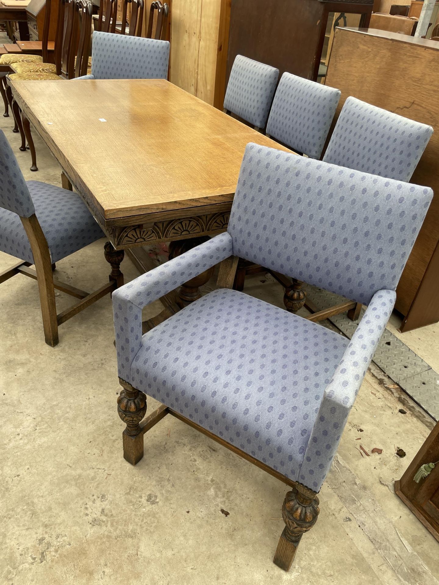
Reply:
[[[140, 273], [227, 229], [245, 146], [289, 150], [166, 80], [11, 82], [23, 115]], [[123, 254], [123, 252], [122, 252]], [[162, 299], [145, 331], [200, 296], [204, 274]]]

